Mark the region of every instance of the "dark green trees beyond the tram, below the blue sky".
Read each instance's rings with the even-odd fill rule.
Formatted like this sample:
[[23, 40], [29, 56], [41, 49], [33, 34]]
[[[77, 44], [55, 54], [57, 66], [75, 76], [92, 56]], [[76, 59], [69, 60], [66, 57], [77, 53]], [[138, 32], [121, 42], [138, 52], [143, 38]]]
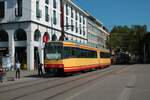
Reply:
[[107, 41], [108, 47], [114, 51], [121, 50], [131, 54], [143, 56], [144, 35], [147, 33], [146, 25], [115, 26]]

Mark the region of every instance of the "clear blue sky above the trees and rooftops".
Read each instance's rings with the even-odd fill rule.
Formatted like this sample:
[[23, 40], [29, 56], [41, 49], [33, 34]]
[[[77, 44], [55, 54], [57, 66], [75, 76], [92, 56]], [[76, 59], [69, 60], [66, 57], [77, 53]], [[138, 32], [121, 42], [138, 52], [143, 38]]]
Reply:
[[114, 25], [147, 25], [150, 31], [150, 0], [73, 0], [109, 30]]

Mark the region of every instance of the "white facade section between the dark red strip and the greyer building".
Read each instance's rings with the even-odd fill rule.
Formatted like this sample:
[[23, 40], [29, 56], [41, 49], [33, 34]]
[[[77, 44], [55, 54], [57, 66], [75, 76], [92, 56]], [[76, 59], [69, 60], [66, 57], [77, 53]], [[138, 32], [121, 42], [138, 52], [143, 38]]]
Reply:
[[[69, 2], [68, 2], [69, 1]], [[79, 43], [87, 43], [87, 13], [71, 0], [64, 0], [64, 24], [66, 37]]]

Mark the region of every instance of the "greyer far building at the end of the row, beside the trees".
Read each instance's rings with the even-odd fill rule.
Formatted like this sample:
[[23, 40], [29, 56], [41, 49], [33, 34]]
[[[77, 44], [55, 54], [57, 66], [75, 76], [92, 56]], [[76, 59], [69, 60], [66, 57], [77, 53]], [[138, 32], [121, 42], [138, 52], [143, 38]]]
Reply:
[[88, 44], [96, 48], [106, 48], [106, 40], [109, 36], [107, 29], [94, 16], [88, 16], [87, 24]]

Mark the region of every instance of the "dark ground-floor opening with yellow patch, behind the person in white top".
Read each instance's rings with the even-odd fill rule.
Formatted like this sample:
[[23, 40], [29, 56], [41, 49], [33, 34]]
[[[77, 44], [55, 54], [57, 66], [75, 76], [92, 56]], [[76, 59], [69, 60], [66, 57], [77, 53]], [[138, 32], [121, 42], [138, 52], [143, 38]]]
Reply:
[[27, 53], [26, 47], [15, 48], [15, 61], [19, 61], [21, 69], [27, 69]]

